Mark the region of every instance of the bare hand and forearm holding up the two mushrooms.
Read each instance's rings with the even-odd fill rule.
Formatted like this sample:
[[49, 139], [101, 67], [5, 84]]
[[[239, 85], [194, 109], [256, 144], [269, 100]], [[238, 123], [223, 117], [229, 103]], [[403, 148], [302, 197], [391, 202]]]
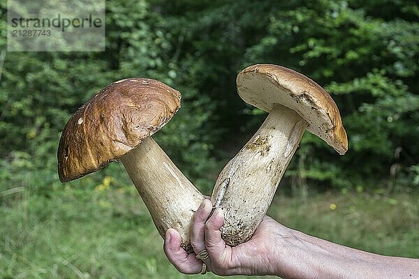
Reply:
[[[376, 255], [318, 239], [288, 229], [265, 216], [251, 239], [235, 247], [221, 239], [223, 213], [212, 210], [205, 199], [193, 216], [191, 245], [195, 253], [180, 248], [180, 236], [168, 229], [164, 250], [182, 273], [207, 271], [228, 275], [277, 275], [282, 278], [416, 278], [419, 259]], [[196, 255], [207, 250], [201, 261]], [[342, 268], [344, 266], [344, 268]], [[413, 276], [413, 277], [412, 277]], [[419, 278], [419, 277], [418, 277]]]

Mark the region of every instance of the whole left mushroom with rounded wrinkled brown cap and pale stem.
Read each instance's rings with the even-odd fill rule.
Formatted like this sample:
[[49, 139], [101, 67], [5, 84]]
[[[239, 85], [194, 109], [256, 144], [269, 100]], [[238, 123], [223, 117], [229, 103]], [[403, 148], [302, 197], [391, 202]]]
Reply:
[[102, 89], [73, 114], [61, 135], [61, 182], [121, 160], [161, 236], [169, 228], [191, 252], [189, 225], [204, 197], [152, 139], [180, 107], [179, 91], [157, 80], [130, 78]]

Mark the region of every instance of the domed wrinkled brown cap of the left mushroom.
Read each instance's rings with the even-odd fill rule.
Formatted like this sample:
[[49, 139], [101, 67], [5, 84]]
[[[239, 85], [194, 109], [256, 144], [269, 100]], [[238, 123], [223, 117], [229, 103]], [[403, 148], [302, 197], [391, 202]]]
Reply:
[[153, 135], [180, 108], [179, 91], [157, 80], [112, 82], [78, 109], [58, 147], [61, 182], [96, 172]]

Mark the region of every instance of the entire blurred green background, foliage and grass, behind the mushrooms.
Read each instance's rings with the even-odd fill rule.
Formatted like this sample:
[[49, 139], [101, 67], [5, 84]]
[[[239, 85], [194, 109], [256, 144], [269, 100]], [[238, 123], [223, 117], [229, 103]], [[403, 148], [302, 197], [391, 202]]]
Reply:
[[[349, 141], [339, 156], [305, 133], [270, 215], [347, 246], [419, 257], [418, 19], [414, 0], [107, 0], [105, 52], [8, 52], [0, 278], [190, 278], [164, 256], [121, 165], [59, 183], [59, 136], [110, 82], [161, 80], [181, 91], [182, 109], [154, 139], [210, 195], [266, 116], [235, 93], [235, 75], [253, 63], [324, 86]], [[0, 32], [5, 50], [5, 20]]]

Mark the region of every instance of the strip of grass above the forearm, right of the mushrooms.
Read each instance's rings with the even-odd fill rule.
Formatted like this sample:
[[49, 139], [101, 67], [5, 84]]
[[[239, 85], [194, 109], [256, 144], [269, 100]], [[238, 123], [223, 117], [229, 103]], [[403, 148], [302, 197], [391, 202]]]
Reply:
[[419, 193], [326, 193], [306, 201], [276, 197], [268, 214], [288, 227], [345, 246], [418, 258], [418, 199]]

